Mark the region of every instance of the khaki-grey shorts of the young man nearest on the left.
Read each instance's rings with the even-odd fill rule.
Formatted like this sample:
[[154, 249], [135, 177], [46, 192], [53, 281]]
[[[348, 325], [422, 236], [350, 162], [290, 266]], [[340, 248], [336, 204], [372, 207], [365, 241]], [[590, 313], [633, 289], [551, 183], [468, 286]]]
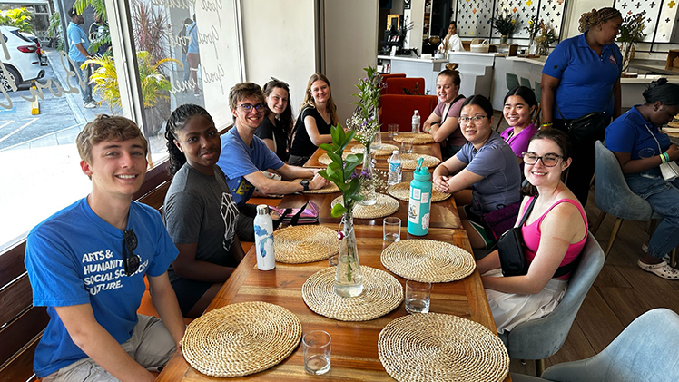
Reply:
[[[160, 371], [174, 354], [175, 345], [170, 332], [159, 318], [137, 315], [139, 322], [134, 327], [132, 338], [121, 346], [130, 357], [150, 371]], [[67, 367], [62, 367], [42, 379], [44, 382], [115, 382], [113, 377], [92, 358], [83, 358]]]

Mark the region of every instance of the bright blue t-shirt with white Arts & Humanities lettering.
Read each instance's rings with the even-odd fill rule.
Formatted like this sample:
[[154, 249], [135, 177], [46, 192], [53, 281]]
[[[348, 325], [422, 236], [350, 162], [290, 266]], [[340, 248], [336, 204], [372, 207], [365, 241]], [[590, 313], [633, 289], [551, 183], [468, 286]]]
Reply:
[[28, 234], [25, 266], [34, 306], [47, 307], [50, 322], [35, 349], [34, 372], [45, 377], [86, 358], [69, 336], [54, 307], [90, 304], [94, 318], [119, 343], [132, 337], [146, 289], [143, 275], [161, 276], [179, 251], [153, 208], [132, 202], [127, 230], [134, 230], [139, 269], [123, 269], [123, 231], [76, 201]]

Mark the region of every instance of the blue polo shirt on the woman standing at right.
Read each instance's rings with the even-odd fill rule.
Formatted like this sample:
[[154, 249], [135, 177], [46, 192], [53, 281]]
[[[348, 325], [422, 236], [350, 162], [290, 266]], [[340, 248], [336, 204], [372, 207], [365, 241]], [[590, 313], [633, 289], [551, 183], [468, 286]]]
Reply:
[[553, 110], [556, 119], [561, 119], [556, 105], [567, 120], [592, 112], [613, 113], [611, 94], [623, 70], [623, 57], [616, 44], [605, 45], [602, 54], [596, 54], [585, 34], [556, 45], [542, 70], [560, 80]]

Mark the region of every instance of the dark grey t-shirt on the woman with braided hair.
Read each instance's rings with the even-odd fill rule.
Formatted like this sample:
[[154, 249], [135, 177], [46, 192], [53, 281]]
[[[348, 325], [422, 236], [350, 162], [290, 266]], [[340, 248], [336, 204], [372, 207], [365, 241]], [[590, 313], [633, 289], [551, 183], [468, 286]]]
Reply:
[[[162, 220], [175, 244], [198, 243], [196, 260], [226, 266], [231, 258], [238, 205], [233, 201], [224, 173], [214, 166], [214, 176], [185, 163], [165, 195]], [[177, 279], [169, 269], [171, 281]]]

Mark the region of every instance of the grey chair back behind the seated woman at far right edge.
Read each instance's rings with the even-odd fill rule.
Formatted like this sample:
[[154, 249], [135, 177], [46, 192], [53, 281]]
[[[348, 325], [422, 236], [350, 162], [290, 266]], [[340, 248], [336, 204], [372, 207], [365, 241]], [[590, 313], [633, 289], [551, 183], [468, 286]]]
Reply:
[[607, 214], [628, 220], [649, 220], [653, 209], [648, 201], [632, 192], [625, 181], [620, 162], [604, 143], [596, 141], [596, 207]]

